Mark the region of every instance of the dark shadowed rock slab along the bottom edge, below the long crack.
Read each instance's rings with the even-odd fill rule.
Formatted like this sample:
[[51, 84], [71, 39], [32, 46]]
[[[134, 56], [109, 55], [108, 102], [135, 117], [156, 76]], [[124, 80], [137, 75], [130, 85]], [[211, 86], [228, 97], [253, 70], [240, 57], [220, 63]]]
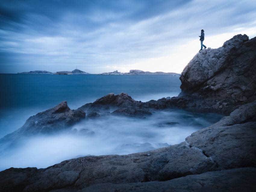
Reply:
[[[170, 181], [151, 181], [126, 184], [101, 183], [85, 187], [79, 192], [116, 191], [194, 191], [194, 192], [254, 192], [256, 168], [239, 168], [188, 175]], [[58, 190], [59, 191], [59, 190]]]

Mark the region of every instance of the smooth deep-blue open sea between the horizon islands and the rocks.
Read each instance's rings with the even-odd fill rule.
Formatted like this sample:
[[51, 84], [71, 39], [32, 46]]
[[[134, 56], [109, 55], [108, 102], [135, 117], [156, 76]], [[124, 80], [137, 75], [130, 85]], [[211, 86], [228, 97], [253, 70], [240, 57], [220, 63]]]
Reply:
[[179, 76], [0, 74], [0, 138], [38, 112], [67, 101], [77, 109], [109, 93], [126, 92], [137, 101], [180, 93]]

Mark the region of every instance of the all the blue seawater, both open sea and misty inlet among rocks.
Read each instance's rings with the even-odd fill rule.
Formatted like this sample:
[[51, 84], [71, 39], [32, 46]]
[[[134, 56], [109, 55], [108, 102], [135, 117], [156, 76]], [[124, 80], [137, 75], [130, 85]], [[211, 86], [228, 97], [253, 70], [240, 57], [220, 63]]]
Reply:
[[[108, 93], [126, 92], [137, 101], [180, 93], [179, 76], [170, 75], [47, 75], [0, 74], [0, 137], [19, 129], [38, 112], [67, 101], [71, 109]], [[129, 154], [178, 144], [192, 132], [217, 122], [214, 113], [180, 109], [155, 111], [145, 119], [104, 116], [85, 119], [58, 135], [34, 136], [18, 146], [0, 149], [0, 170], [45, 168], [84, 155]]]

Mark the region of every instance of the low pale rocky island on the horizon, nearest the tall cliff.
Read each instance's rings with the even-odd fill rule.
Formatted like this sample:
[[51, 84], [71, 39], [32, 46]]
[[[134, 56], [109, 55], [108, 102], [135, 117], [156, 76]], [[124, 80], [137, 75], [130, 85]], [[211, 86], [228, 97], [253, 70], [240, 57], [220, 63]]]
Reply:
[[109, 73], [99, 73], [97, 75], [173, 75], [173, 76], [180, 76], [179, 73], [164, 73], [164, 72], [149, 72], [149, 71], [142, 71], [142, 70], [130, 70], [129, 73], [121, 73], [116, 71], [109, 72]]

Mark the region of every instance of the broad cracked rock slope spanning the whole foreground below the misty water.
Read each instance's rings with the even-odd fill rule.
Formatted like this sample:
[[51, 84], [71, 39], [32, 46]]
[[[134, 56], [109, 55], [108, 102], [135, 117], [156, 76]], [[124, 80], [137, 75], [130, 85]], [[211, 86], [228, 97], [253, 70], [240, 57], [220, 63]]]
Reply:
[[160, 185], [164, 191], [175, 183], [184, 183], [185, 186], [198, 183], [189, 191], [214, 191], [218, 186], [222, 191], [239, 191], [241, 187], [234, 186], [246, 180], [248, 183], [242, 186], [243, 190], [253, 191], [255, 184], [251, 175], [256, 174], [255, 111], [256, 101], [245, 104], [220, 122], [193, 133], [186, 141], [157, 150], [80, 157], [46, 169], [7, 169], [0, 172], [0, 187], [3, 191], [15, 187], [20, 191], [95, 191], [97, 186], [100, 189], [111, 186], [98, 191], [116, 191], [136, 186], [138, 190], [147, 191], [148, 187]]

